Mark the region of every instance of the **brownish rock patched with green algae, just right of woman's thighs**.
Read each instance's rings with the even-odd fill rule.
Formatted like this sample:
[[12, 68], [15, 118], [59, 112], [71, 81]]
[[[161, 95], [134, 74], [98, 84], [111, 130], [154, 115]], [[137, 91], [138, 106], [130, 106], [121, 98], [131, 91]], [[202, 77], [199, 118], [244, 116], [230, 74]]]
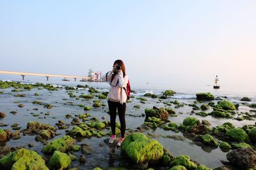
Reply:
[[146, 117], [156, 117], [161, 118], [161, 120], [167, 120], [169, 117], [168, 111], [164, 110], [164, 108], [157, 108], [154, 106], [152, 109], [145, 109]]

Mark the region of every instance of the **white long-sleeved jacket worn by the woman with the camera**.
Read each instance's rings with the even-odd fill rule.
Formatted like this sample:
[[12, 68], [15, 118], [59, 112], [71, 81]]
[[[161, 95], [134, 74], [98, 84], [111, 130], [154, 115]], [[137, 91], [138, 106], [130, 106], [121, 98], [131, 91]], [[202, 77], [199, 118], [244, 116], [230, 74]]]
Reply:
[[[111, 82], [112, 74], [113, 74], [113, 71], [109, 71], [108, 73], [103, 74], [101, 77], [102, 80], [107, 81], [106, 80], [106, 76], [107, 76], [108, 82], [111, 84], [107, 99], [109, 101], [115, 101], [115, 102], [123, 104], [127, 101], [127, 95], [126, 95], [126, 92], [123, 87], [127, 86], [128, 76], [125, 75], [123, 77], [123, 72], [120, 71], [120, 72], [118, 72], [118, 74], [116, 74], [115, 78]], [[118, 81], [118, 83], [117, 83], [117, 81]], [[117, 85], [116, 85], [116, 83], [117, 83]]]

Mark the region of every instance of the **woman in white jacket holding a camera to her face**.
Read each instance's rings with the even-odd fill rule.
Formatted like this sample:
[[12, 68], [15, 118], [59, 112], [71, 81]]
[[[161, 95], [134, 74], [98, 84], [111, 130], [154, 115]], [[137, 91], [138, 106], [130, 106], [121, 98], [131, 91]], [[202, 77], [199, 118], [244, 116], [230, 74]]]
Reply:
[[125, 134], [125, 110], [127, 94], [124, 87], [127, 86], [128, 76], [125, 74], [125, 65], [122, 60], [115, 60], [112, 71], [102, 76], [102, 80], [108, 81], [110, 90], [108, 93], [108, 107], [110, 112], [110, 124], [112, 135], [109, 143], [114, 143], [116, 139], [116, 109], [121, 124], [121, 138], [118, 140], [117, 146], [121, 146]]

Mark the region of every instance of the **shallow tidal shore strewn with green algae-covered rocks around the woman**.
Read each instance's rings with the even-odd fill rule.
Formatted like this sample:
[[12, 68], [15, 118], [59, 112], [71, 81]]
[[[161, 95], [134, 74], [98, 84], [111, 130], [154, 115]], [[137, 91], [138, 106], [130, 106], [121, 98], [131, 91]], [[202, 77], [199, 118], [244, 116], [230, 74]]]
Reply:
[[117, 147], [106, 89], [0, 81], [0, 169], [256, 168], [256, 101], [175, 94], [133, 91]]

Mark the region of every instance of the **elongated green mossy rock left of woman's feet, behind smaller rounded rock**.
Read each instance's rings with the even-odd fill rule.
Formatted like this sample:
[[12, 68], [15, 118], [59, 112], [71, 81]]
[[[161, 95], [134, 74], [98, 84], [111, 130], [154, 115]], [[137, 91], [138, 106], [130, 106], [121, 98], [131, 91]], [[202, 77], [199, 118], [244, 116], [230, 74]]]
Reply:
[[60, 152], [67, 152], [72, 148], [72, 145], [75, 143], [75, 140], [70, 136], [63, 136], [62, 138], [55, 139], [51, 141], [46, 146], [44, 146], [43, 153], [53, 153], [55, 150]]

